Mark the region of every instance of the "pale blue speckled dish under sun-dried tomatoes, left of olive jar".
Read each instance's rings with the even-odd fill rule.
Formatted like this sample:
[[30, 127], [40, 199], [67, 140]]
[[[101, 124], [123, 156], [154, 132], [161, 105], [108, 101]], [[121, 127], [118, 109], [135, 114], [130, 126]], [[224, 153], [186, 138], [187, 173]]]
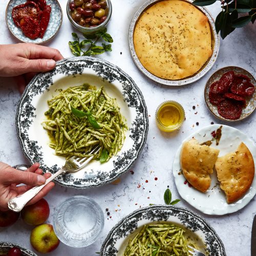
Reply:
[[6, 7], [5, 19], [9, 30], [17, 39], [23, 42], [44, 44], [45, 42], [50, 41], [58, 33], [62, 24], [63, 14], [59, 2], [57, 0], [46, 1], [47, 5], [51, 5], [52, 7], [49, 24], [44, 37], [36, 39], [30, 39], [29, 37], [25, 36], [22, 30], [18, 28], [13, 22], [12, 9], [17, 5], [24, 4], [25, 2], [26, 0], [10, 0], [10, 2], [8, 3]]

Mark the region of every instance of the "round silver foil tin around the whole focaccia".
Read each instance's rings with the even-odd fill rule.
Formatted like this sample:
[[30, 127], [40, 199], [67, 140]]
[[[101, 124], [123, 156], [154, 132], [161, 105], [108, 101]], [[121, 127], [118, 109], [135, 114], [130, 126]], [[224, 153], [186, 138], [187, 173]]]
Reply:
[[[153, 6], [154, 4], [161, 2], [162, 0], [148, 0], [146, 1], [134, 14], [130, 27], [129, 27], [129, 47], [131, 51], [132, 58], [138, 67], [138, 69], [148, 78], [152, 79], [153, 81], [156, 81], [161, 84], [165, 84], [166, 86], [184, 86], [185, 84], [192, 83], [197, 81], [198, 79], [202, 78], [211, 68], [214, 66], [215, 61], [217, 60], [219, 49], [220, 49], [220, 37], [216, 32], [215, 29], [215, 20], [209, 13], [207, 9], [201, 6], [196, 6], [199, 10], [201, 10], [208, 18], [209, 25], [211, 29], [211, 49], [212, 49], [212, 55], [211, 57], [204, 63], [203, 67], [196, 72], [194, 75], [185, 77], [179, 80], [167, 80], [159, 78], [152, 73], [148, 72], [143, 65], [141, 64], [134, 48], [134, 42], [133, 42], [133, 34], [134, 29], [136, 27], [136, 24], [140, 18], [140, 15], [148, 8]], [[185, 2], [193, 3], [193, 0], [186, 0]]]

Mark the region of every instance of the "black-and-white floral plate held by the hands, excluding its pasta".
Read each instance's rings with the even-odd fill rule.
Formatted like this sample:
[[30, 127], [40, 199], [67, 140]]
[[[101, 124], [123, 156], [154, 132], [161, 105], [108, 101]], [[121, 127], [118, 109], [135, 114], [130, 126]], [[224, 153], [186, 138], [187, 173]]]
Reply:
[[63, 186], [87, 188], [116, 180], [127, 172], [140, 155], [147, 138], [148, 116], [143, 95], [133, 79], [108, 61], [92, 57], [73, 57], [57, 62], [54, 70], [35, 76], [22, 95], [16, 114], [17, 137], [30, 163], [38, 162], [45, 172], [55, 173], [66, 159], [49, 147], [49, 137], [41, 122], [49, 109], [47, 100], [72, 86], [83, 83], [116, 98], [129, 128], [121, 151], [108, 162], [92, 161], [75, 173], [58, 176]]

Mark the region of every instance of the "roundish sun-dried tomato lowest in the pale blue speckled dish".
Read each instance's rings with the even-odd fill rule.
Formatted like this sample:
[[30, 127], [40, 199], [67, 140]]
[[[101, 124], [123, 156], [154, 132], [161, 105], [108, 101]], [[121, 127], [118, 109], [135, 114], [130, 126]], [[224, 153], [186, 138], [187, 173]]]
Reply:
[[37, 20], [27, 16], [20, 20], [20, 28], [30, 39], [35, 39], [40, 34], [39, 23]]

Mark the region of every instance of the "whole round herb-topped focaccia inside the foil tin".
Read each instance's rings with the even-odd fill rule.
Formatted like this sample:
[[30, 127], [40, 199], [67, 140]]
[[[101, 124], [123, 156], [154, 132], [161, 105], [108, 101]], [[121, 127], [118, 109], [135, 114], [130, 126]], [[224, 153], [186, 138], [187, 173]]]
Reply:
[[143, 67], [168, 80], [194, 75], [212, 55], [208, 18], [181, 0], [161, 1], [146, 9], [133, 40]]

